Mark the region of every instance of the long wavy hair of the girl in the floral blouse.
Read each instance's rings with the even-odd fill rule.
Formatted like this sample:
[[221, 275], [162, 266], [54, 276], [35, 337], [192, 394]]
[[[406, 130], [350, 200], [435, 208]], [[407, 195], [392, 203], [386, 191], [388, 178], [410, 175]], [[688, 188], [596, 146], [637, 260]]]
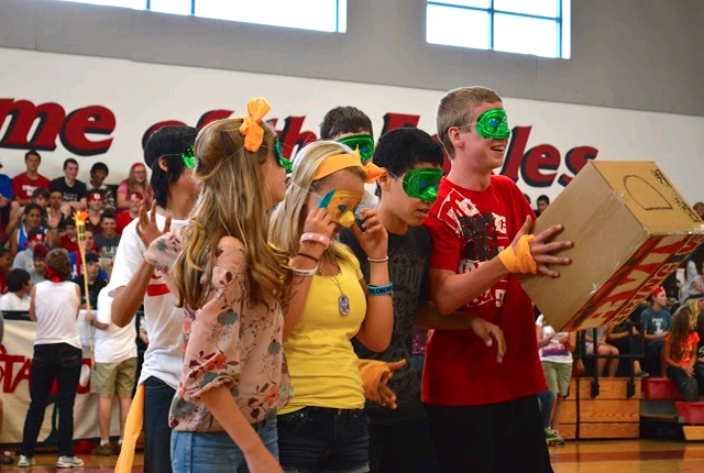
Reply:
[[268, 243], [272, 201], [262, 172], [274, 148], [274, 132], [263, 127], [264, 142], [252, 153], [244, 148], [241, 124], [241, 119], [218, 120], [196, 139], [193, 178], [201, 184], [201, 190], [174, 265], [179, 306], [198, 308], [205, 304], [210, 289], [202, 280], [210, 282], [216, 249], [227, 235], [244, 245], [250, 300], [272, 307], [287, 297], [293, 274], [288, 255]]

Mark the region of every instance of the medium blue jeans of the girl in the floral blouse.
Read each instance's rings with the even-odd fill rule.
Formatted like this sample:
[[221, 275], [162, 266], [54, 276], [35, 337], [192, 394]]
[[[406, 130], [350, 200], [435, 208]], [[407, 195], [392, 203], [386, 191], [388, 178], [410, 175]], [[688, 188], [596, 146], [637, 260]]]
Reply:
[[[278, 458], [276, 443], [276, 416], [252, 425], [264, 447]], [[242, 450], [228, 432], [172, 432], [172, 466], [175, 473], [246, 473], [246, 460]]]

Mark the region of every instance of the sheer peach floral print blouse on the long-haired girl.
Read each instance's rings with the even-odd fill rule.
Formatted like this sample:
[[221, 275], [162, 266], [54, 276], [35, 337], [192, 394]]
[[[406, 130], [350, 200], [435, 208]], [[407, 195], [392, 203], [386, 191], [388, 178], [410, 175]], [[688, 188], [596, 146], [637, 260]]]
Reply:
[[[144, 257], [169, 275], [182, 250], [182, 232], [156, 239]], [[224, 237], [206, 304], [184, 310], [184, 365], [172, 403], [169, 426], [178, 431], [223, 430], [200, 400], [204, 392], [227, 385], [251, 422], [275, 416], [293, 392], [283, 351], [284, 317], [278, 302], [270, 309], [250, 301], [243, 244]], [[174, 290], [173, 278], [168, 277]]]

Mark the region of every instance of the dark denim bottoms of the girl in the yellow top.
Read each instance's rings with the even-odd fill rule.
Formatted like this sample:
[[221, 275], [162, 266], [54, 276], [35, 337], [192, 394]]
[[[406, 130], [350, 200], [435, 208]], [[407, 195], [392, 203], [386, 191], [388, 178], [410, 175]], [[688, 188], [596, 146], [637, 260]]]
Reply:
[[364, 473], [369, 416], [362, 409], [305, 407], [278, 416], [278, 454], [287, 473]]

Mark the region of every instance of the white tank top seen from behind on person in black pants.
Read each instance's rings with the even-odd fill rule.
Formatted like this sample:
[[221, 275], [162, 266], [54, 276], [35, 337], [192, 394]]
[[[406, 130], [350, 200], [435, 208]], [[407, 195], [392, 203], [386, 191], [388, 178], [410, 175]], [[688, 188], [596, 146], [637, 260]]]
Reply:
[[76, 328], [80, 299], [76, 294], [76, 284], [70, 280], [63, 283], [43, 280], [34, 287], [34, 314], [36, 315], [34, 344], [68, 343], [80, 349], [80, 336]]

